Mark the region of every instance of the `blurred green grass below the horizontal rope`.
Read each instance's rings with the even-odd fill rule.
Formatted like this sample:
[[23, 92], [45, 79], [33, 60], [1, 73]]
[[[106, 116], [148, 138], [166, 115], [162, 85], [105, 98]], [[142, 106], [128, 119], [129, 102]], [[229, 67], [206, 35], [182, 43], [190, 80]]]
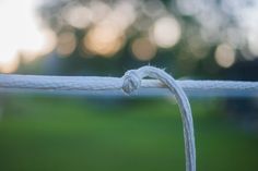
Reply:
[[[167, 99], [2, 100], [1, 171], [184, 171], [178, 108]], [[218, 100], [191, 100], [198, 171], [257, 171], [258, 136]]]

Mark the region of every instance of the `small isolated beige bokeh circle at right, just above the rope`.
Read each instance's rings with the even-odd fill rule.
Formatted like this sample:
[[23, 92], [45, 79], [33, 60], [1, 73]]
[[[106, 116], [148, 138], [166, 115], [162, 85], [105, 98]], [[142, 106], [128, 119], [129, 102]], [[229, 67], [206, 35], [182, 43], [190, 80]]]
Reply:
[[235, 51], [227, 44], [221, 44], [215, 50], [215, 61], [222, 68], [230, 68], [235, 62]]

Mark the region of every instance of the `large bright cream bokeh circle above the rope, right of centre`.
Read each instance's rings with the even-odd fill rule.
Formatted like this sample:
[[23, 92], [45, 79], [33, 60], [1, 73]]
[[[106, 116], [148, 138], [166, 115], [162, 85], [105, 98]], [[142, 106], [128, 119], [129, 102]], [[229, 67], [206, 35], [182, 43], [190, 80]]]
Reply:
[[159, 19], [154, 23], [152, 37], [161, 48], [171, 48], [180, 39], [181, 28], [179, 23], [171, 16]]

